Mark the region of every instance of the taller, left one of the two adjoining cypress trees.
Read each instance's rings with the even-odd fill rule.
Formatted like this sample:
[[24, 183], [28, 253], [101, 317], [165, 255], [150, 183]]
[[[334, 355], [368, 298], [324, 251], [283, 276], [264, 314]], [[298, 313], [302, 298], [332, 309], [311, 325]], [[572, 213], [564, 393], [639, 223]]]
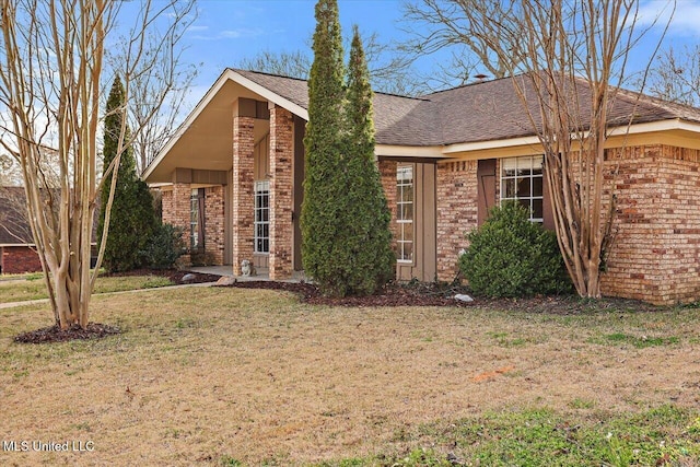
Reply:
[[342, 164], [343, 57], [336, 0], [316, 3], [314, 62], [308, 80], [308, 124], [304, 136], [305, 180], [302, 205], [304, 270], [327, 294], [345, 295], [339, 275], [349, 260], [339, 248], [345, 215]]

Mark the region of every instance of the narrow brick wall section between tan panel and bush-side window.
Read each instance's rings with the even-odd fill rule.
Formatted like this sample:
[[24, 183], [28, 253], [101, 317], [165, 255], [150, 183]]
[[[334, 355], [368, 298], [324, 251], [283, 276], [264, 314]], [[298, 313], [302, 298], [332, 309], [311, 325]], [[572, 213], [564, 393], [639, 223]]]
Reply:
[[[497, 184], [498, 185], [498, 184]], [[477, 225], [477, 161], [438, 164], [438, 279], [452, 281], [465, 234]]]

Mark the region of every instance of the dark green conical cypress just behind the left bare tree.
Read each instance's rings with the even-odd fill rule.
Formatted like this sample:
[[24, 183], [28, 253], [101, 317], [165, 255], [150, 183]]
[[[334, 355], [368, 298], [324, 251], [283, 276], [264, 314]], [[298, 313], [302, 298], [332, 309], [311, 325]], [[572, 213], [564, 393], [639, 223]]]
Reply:
[[[119, 77], [117, 77], [112, 84], [105, 109], [104, 171], [109, 167], [112, 161], [117, 156], [122, 119], [126, 117], [122, 109], [124, 103], [124, 85]], [[128, 141], [128, 139], [129, 129], [127, 127], [124, 141]], [[115, 172], [118, 174], [117, 185], [112, 205], [107, 245], [103, 261], [105, 269], [112, 272], [127, 271], [145, 266], [144, 248], [158, 226], [153, 210], [153, 197], [149, 191], [148, 185], [137, 176], [136, 160], [130, 147], [122, 151], [119, 167]], [[107, 175], [101, 192], [102, 205], [97, 225], [100, 238], [104, 233], [105, 209], [109, 199], [110, 185], [112, 175]]]

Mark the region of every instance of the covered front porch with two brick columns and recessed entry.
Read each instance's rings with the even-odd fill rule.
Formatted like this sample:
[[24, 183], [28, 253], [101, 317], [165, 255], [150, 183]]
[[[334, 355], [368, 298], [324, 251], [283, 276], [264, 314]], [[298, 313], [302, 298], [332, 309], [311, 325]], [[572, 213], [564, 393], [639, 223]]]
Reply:
[[[232, 131], [219, 122], [211, 135], [229, 139], [229, 149], [192, 141], [173, 157], [172, 183], [161, 186], [163, 221], [183, 229], [185, 264], [243, 277], [241, 264], [248, 260], [257, 280], [293, 279], [302, 269], [304, 120], [255, 98], [238, 97], [229, 108]], [[212, 160], [229, 162], [207, 165]]]

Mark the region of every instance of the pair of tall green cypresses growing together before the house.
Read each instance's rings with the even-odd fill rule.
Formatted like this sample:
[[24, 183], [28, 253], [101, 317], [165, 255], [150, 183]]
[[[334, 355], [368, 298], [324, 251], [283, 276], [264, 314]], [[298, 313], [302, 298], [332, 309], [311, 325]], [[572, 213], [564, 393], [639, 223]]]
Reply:
[[372, 90], [359, 33], [348, 87], [336, 0], [316, 4], [308, 81], [304, 269], [326, 294], [368, 294], [393, 276], [389, 211], [374, 161]]

